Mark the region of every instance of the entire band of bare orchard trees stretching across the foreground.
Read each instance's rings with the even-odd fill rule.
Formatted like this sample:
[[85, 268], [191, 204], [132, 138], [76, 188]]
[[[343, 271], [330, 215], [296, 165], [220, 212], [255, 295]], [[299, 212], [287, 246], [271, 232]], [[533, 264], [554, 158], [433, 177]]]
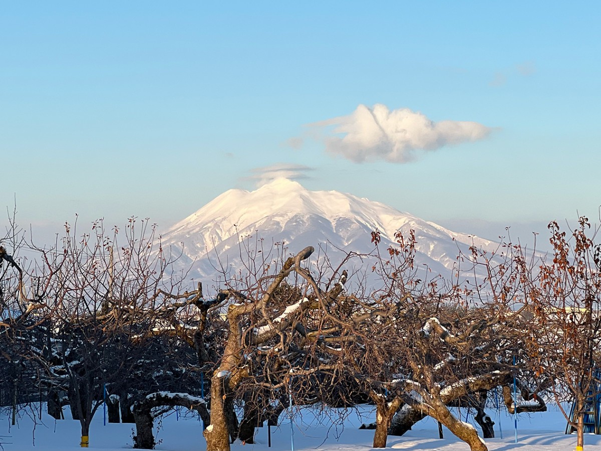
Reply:
[[[570, 233], [549, 229], [546, 257], [510, 243], [459, 255], [457, 274], [484, 269], [471, 282], [424, 277], [413, 232], [383, 249], [374, 231], [369, 256], [313, 272], [313, 247], [248, 254], [207, 296], [173, 269], [178, 256], [147, 220], [123, 230], [98, 221], [85, 233], [66, 224], [49, 250], [13, 227], [0, 247], [0, 405], [13, 421], [28, 403], [56, 419], [69, 405], [85, 446], [106, 402], [110, 422], [135, 423], [136, 448], [154, 447], [154, 418], [184, 407], [203, 420], [207, 450], [227, 451], [285, 410], [344, 416], [371, 403], [374, 447], [430, 416], [484, 451], [453, 407], [471, 408], [489, 438], [490, 393], [511, 414], [543, 411], [554, 396], [576, 399], [582, 446], [599, 363], [601, 248], [587, 218]], [[25, 247], [37, 259], [20, 256]], [[377, 283], [349, 274], [353, 258], [370, 262]]]

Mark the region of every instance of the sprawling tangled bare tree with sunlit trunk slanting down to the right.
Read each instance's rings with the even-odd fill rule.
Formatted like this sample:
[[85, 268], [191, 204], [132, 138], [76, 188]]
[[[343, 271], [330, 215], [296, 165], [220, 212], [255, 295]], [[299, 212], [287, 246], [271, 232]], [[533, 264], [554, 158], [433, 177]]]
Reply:
[[[373, 238], [377, 244], [377, 233]], [[492, 256], [473, 247], [469, 264], [483, 262], [489, 274], [480, 285], [462, 287], [439, 277], [423, 281], [413, 267], [414, 250], [413, 233], [407, 238], [399, 233], [388, 258], [380, 257], [374, 268], [387, 283], [370, 305], [361, 307], [364, 315], [378, 321], [362, 322], [355, 334], [365, 337], [356, 352], [355, 370], [376, 405], [374, 447], [386, 446], [389, 430], [402, 434], [431, 416], [472, 450], [486, 450], [477, 431], [457, 419], [450, 405], [464, 400], [477, 405], [484, 417], [477, 398], [498, 386], [508, 388], [515, 376], [520, 393], [534, 400], [523, 411], [545, 410], [536, 396], [539, 387], [530, 388], [531, 372], [522, 360], [519, 367], [513, 364], [513, 356], [524, 353], [522, 337], [530, 327], [525, 308], [514, 308], [516, 292], [508, 285], [518, 268], [511, 256], [492, 263]]]

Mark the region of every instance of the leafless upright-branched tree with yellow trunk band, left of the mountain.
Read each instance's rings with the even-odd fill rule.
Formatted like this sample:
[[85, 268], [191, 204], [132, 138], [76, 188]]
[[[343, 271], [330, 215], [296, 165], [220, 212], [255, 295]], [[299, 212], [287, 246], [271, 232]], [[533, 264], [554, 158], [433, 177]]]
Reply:
[[69, 392], [87, 444], [91, 420], [104, 402], [103, 387], [115, 393], [127, 388], [127, 376], [144, 354], [135, 337], [149, 336], [153, 326], [146, 313], [155, 307], [157, 293], [177, 290], [177, 282], [165, 277], [168, 260], [148, 221], [137, 230], [130, 218], [123, 245], [120, 230], [108, 233], [102, 221], [81, 236], [76, 225], [67, 224], [59, 245], [43, 254], [53, 275], [44, 292], [52, 340], [50, 358], [43, 350], [37, 358], [48, 383]]

